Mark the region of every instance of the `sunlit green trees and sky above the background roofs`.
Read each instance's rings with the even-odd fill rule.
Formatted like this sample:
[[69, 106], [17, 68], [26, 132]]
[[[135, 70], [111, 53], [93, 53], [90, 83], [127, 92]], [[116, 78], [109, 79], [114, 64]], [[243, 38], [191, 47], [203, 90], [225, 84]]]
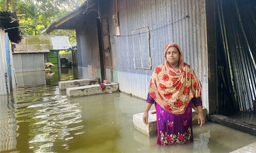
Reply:
[[[19, 17], [20, 26], [26, 26], [22, 29], [23, 35], [48, 35], [41, 32], [83, 3], [83, 0], [0, 0], [0, 10], [8, 10], [9, 6], [17, 14], [26, 14]], [[71, 44], [76, 42], [75, 30], [55, 30], [49, 35], [69, 36]]]

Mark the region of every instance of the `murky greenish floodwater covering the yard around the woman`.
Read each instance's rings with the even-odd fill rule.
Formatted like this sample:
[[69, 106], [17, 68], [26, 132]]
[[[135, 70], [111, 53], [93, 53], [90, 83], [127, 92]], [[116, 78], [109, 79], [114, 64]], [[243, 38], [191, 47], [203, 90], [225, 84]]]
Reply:
[[77, 79], [77, 70], [53, 71], [17, 74], [15, 97], [0, 97], [0, 151], [230, 152], [256, 141], [206, 122], [193, 126], [194, 142], [159, 146], [157, 136], [133, 128], [132, 116], [143, 112], [145, 100], [120, 92], [67, 99], [58, 81]]

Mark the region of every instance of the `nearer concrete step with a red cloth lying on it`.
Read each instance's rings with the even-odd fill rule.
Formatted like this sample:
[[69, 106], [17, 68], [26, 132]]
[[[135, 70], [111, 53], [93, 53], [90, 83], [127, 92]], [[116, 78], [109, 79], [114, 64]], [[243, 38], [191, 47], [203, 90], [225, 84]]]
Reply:
[[82, 97], [82, 96], [103, 94], [107, 92], [118, 92], [118, 91], [119, 91], [119, 84], [115, 82], [111, 82], [110, 84], [105, 84], [105, 88], [103, 91], [100, 90], [100, 84], [85, 85], [85, 86], [79, 86], [74, 88], [67, 88], [67, 97], [68, 98]]

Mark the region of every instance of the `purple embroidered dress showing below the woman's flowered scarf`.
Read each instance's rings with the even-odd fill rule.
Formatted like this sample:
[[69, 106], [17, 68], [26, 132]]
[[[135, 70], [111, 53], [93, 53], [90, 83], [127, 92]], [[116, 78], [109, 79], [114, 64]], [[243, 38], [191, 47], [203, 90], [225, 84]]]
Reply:
[[148, 94], [148, 103], [155, 103], [157, 119], [157, 144], [185, 144], [193, 141], [192, 102], [194, 106], [202, 105], [200, 97], [192, 98], [184, 114], [172, 114], [164, 110]]

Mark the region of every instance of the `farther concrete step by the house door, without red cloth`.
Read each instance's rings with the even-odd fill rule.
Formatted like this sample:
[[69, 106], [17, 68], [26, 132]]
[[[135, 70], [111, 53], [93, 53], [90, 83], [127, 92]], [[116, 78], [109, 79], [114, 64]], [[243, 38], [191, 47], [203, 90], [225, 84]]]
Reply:
[[59, 82], [59, 89], [60, 89], [60, 91], [62, 91], [62, 90], [66, 90], [67, 88], [73, 88], [73, 87], [84, 86], [84, 85], [99, 84], [99, 82], [100, 82], [100, 78], [60, 81]]

